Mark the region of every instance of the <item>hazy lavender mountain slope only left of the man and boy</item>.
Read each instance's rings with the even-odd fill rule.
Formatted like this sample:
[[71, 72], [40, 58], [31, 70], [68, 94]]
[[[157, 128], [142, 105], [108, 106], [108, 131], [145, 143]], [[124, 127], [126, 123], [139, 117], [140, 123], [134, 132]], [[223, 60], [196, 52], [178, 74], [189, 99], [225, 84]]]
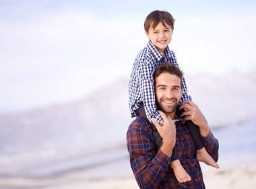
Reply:
[[128, 80], [92, 92], [69, 104], [0, 115], [0, 151], [77, 149], [120, 145], [131, 122]]

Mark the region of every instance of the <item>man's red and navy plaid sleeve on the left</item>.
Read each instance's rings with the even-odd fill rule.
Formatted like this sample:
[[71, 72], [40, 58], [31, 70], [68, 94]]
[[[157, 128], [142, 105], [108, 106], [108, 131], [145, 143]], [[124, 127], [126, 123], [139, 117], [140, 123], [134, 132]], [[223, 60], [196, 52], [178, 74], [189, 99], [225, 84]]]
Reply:
[[140, 188], [158, 188], [168, 170], [170, 157], [156, 151], [143, 128], [133, 126], [127, 134], [131, 169]]

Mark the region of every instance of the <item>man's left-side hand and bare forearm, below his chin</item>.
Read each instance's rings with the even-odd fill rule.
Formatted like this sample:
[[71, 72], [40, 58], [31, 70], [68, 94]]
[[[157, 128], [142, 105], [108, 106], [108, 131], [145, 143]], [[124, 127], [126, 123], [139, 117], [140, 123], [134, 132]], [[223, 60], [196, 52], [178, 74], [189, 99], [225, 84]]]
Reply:
[[156, 126], [158, 133], [162, 137], [162, 146], [160, 147], [161, 151], [165, 153], [168, 157], [172, 155], [172, 149], [176, 143], [176, 126], [172, 122], [172, 120], [168, 120], [166, 114], [162, 111], [158, 111], [162, 116], [164, 122], [163, 125], [160, 126], [156, 118], [152, 118], [152, 122]]

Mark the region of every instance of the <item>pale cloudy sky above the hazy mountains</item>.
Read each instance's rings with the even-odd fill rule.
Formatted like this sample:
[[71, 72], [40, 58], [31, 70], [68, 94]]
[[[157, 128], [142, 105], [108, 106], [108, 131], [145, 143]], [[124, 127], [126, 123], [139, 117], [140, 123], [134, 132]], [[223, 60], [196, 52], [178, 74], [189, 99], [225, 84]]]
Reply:
[[176, 20], [169, 47], [185, 75], [246, 73], [255, 67], [255, 8], [236, 0], [0, 0], [0, 113], [70, 102], [129, 78], [156, 9]]

